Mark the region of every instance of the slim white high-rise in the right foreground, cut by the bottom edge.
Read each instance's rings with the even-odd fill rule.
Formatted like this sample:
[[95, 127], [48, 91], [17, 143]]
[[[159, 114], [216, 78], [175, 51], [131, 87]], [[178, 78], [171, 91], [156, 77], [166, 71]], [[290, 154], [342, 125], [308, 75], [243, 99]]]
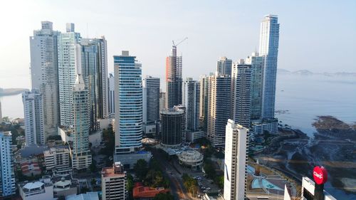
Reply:
[[228, 120], [225, 137], [224, 199], [246, 199], [248, 129]]

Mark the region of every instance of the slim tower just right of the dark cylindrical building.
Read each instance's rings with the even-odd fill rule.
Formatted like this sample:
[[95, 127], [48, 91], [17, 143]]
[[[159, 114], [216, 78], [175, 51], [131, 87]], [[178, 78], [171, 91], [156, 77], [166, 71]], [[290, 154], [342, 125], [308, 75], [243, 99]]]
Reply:
[[184, 82], [184, 105], [187, 107], [187, 130], [199, 130], [200, 84], [187, 78]]

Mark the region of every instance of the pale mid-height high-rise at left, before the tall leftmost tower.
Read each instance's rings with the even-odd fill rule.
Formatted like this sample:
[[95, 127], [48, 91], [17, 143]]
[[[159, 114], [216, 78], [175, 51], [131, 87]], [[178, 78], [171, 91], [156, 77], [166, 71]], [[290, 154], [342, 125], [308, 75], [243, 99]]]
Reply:
[[42, 94], [36, 89], [26, 91], [22, 94], [22, 102], [26, 146], [45, 144]]

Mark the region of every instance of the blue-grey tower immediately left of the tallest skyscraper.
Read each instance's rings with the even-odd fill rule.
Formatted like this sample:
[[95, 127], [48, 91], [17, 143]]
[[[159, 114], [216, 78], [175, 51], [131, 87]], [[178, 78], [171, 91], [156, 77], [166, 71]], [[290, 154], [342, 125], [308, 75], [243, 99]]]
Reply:
[[246, 64], [251, 65], [251, 120], [262, 118], [262, 90], [263, 90], [263, 57], [252, 53], [246, 58]]

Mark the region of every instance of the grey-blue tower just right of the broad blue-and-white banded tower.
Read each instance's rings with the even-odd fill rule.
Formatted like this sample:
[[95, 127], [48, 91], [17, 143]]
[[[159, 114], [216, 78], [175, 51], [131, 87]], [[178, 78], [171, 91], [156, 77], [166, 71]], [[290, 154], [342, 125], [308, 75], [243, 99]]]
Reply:
[[143, 125], [145, 133], [156, 133], [159, 122], [159, 78], [146, 76], [143, 87]]

